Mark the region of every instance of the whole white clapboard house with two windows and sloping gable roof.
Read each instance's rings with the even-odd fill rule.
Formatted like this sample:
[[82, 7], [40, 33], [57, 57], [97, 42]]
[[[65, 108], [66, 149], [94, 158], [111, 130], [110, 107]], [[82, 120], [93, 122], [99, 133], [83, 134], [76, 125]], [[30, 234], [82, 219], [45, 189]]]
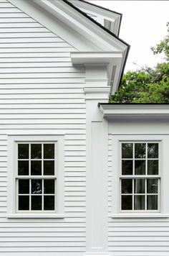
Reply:
[[0, 256], [169, 255], [169, 107], [107, 103], [121, 18], [0, 0]]

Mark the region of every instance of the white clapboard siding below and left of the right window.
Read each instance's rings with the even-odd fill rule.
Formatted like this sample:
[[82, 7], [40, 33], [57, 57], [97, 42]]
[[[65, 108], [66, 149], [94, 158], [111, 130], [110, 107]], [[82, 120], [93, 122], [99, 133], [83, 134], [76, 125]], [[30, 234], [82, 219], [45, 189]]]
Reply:
[[113, 219], [112, 218], [112, 134], [108, 140], [108, 245], [112, 256], [169, 255], [169, 222], [166, 219]]

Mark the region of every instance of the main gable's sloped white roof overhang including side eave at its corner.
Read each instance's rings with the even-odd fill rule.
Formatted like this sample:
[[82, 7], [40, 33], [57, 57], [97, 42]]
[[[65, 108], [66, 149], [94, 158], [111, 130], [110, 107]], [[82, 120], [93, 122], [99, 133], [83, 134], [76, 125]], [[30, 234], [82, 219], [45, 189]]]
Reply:
[[[69, 1], [9, 0], [11, 4], [29, 14], [52, 32], [57, 34], [59, 28], [62, 38], [74, 45], [79, 53], [85, 55], [94, 52], [96, 63], [97, 58], [100, 59], [102, 55], [98, 61], [102, 63], [102, 60], [105, 60], [105, 63], [110, 64], [108, 86], [111, 87], [110, 93], [115, 93], [120, 85], [130, 45]], [[61, 25], [64, 26], [64, 35]], [[119, 55], [117, 56], [116, 53]], [[89, 58], [91, 62], [91, 55]]]

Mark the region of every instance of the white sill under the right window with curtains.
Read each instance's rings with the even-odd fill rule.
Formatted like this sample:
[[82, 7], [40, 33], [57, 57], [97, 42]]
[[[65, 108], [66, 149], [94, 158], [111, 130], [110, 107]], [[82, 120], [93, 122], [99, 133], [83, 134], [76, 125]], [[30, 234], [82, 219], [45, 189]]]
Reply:
[[112, 218], [169, 218], [168, 214], [112, 214]]

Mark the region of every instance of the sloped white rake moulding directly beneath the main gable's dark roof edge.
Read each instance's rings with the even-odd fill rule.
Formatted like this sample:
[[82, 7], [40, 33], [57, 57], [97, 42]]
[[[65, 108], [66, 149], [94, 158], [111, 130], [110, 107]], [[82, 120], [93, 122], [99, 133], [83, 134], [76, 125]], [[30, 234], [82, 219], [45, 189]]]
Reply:
[[[30, 0], [29, 0], [30, 1]], [[57, 14], [57, 17], [68, 24], [72, 29], [76, 30], [79, 35], [86, 37], [87, 40], [90, 40], [94, 45], [97, 45], [103, 51], [118, 51], [125, 50], [127, 47], [120, 40], [112, 35], [109, 35], [97, 24], [92, 22], [87, 17], [84, 17], [76, 9], [71, 8], [64, 1], [54, 1], [54, 0], [31, 0], [36, 4], [43, 6], [45, 9], [49, 9], [52, 14]]]

